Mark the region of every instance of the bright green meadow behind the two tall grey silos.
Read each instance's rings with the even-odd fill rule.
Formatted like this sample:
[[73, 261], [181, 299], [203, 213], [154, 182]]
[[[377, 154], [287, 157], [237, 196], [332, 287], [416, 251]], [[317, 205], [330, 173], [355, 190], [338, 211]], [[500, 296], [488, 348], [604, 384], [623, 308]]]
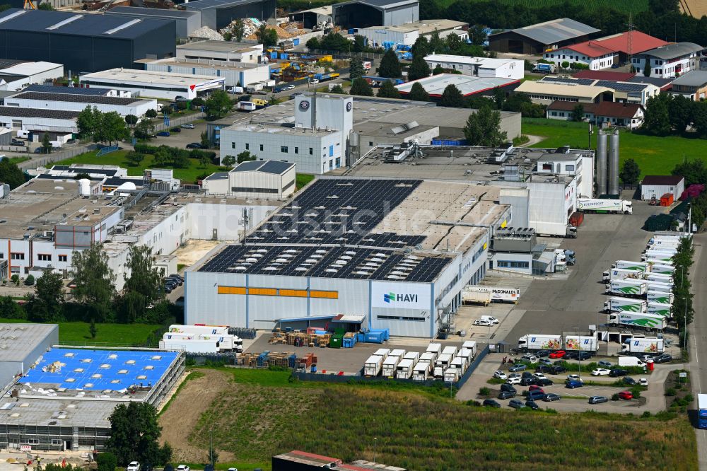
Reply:
[[[533, 144], [532, 147], [572, 146], [587, 149], [588, 123], [559, 120], [523, 118], [523, 134], [544, 136], [547, 139]], [[670, 171], [683, 158], [701, 158], [707, 160], [707, 140], [688, 139], [678, 136], [644, 136], [631, 132], [622, 132], [619, 139], [621, 162], [633, 158], [641, 168], [643, 175], [670, 175]], [[592, 135], [592, 149], [597, 146], [596, 132]]]

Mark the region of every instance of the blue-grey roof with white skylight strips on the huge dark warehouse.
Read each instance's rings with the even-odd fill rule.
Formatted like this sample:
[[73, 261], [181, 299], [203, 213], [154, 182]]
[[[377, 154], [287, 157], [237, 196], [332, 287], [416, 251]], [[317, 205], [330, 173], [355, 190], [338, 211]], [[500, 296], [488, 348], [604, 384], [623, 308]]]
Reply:
[[[9, 17], [12, 18], [7, 20]], [[170, 21], [172, 20], [146, 18], [128, 24], [131, 20], [119, 16], [10, 8], [0, 13], [0, 30], [133, 39], [161, 28]], [[110, 31], [115, 32], [109, 33]]]

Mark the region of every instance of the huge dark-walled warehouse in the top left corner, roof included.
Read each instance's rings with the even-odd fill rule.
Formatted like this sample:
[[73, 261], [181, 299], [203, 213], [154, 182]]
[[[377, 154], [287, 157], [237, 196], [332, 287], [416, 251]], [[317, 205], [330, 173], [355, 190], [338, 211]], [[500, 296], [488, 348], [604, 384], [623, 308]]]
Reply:
[[168, 20], [17, 8], [0, 13], [0, 57], [56, 62], [72, 74], [173, 57], [176, 42]]

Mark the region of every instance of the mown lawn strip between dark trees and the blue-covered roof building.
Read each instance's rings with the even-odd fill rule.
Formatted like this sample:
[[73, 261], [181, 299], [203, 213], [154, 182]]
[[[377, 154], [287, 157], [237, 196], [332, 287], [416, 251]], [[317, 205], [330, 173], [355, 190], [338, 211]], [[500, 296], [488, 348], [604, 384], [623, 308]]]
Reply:
[[[0, 319], [0, 322], [29, 322], [20, 319]], [[98, 334], [90, 338], [88, 322], [59, 322], [59, 342], [65, 344], [91, 344], [103, 347], [126, 347], [145, 344], [147, 337], [158, 329], [156, 324], [96, 324]]]

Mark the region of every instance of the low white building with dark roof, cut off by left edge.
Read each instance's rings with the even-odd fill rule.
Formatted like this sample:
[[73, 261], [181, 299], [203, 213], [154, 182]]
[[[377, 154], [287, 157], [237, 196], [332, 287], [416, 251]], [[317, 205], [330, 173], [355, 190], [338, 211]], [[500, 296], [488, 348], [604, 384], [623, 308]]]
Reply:
[[0, 106], [0, 127], [24, 131], [78, 132], [77, 111]]

